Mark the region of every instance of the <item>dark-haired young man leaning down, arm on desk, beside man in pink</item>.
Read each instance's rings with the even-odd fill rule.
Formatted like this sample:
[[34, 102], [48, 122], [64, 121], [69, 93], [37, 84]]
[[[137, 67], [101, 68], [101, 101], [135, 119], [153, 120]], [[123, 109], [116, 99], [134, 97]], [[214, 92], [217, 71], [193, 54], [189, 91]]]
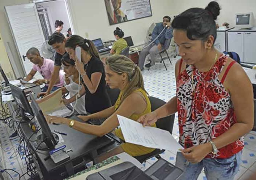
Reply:
[[66, 53], [65, 42], [66, 42], [66, 38], [62, 33], [59, 33], [59, 32], [52, 34], [48, 40], [48, 44], [51, 45], [56, 50], [55, 60], [54, 60], [54, 71], [52, 72], [52, 76], [51, 76], [47, 91], [43, 93], [38, 93], [38, 97], [50, 94], [54, 84], [57, 81], [57, 78], [59, 77], [59, 72], [61, 68], [61, 59], [63, 55]]

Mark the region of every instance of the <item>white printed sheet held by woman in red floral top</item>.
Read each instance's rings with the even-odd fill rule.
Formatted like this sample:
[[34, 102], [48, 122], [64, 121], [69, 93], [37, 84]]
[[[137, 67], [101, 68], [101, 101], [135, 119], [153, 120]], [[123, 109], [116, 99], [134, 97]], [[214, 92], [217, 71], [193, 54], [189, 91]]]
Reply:
[[117, 116], [125, 142], [170, 150], [171, 152], [183, 149], [170, 132], [154, 127], [143, 127], [142, 124], [127, 117]]

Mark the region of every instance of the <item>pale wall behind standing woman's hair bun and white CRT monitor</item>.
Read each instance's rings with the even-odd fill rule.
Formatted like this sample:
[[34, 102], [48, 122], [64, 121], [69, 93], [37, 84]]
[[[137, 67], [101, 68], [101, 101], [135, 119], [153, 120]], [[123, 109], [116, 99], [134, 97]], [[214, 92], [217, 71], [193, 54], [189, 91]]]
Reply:
[[[173, 0], [172, 12], [182, 13], [192, 7], [205, 8], [211, 0]], [[256, 0], [217, 0], [221, 6], [221, 13], [218, 16], [217, 23], [222, 26], [223, 22], [230, 23], [230, 27], [235, 25], [235, 14], [243, 12], [253, 12], [256, 26]]]

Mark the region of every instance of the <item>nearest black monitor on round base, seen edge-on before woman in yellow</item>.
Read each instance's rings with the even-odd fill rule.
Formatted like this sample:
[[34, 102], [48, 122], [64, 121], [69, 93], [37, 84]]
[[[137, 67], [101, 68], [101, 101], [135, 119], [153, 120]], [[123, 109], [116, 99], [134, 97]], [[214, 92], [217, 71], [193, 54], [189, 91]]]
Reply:
[[[37, 118], [38, 123], [40, 124], [42, 134], [40, 134], [37, 137], [37, 142], [38, 144], [40, 143], [40, 147], [38, 148], [39, 150], [48, 150], [48, 149], [53, 149], [54, 146], [57, 144], [59, 141], [59, 137], [51, 132], [51, 129], [49, 128], [47, 121], [43, 115], [42, 110], [38, 106], [34, 96], [32, 94], [29, 95], [31, 99], [31, 107], [32, 110], [35, 114], [35, 117]], [[41, 143], [44, 142], [44, 143]]]

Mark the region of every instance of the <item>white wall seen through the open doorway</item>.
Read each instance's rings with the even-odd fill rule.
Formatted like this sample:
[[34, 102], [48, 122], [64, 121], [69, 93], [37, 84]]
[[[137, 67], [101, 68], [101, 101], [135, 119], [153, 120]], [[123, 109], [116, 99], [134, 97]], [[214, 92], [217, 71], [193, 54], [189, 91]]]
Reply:
[[45, 2], [45, 3], [37, 3], [37, 5], [42, 5], [43, 7], [50, 7], [50, 14], [52, 18], [52, 32], [55, 31], [55, 21], [60, 20], [63, 21], [63, 30], [61, 33], [67, 34], [67, 30], [70, 26], [69, 19], [68, 19], [68, 12], [66, 10], [66, 5], [64, 0], [58, 0], [58, 1], [51, 1], [51, 2]]

